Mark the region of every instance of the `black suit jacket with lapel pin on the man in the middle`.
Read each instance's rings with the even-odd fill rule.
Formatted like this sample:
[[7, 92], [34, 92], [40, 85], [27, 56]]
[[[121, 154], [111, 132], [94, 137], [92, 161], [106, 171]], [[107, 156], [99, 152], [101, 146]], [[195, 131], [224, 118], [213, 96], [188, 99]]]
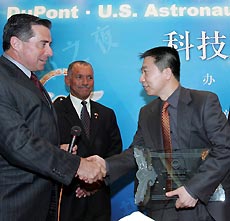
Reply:
[[[117, 125], [115, 113], [112, 109], [97, 102], [90, 101], [91, 122], [90, 139], [83, 130], [83, 126], [73, 104], [68, 96], [62, 101], [55, 103], [58, 115], [61, 143], [70, 143], [71, 128], [75, 125], [82, 128], [82, 133], [77, 138], [78, 155], [91, 156], [97, 154], [103, 158], [120, 153], [122, 140]], [[75, 181], [78, 183], [78, 181]], [[99, 214], [110, 214], [110, 190], [105, 185], [94, 195], [77, 199], [74, 186], [64, 187], [61, 203], [61, 220], [83, 220], [86, 214], [98, 216]], [[73, 188], [72, 188], [73, 187]]]

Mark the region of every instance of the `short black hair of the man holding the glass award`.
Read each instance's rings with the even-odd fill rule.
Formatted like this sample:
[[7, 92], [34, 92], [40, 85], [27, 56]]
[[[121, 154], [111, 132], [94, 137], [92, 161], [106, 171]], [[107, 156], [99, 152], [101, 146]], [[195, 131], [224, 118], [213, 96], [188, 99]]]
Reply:
[[180, 57], [175, 48], [161, 46], [140, 54], [141, 59], [149, 56], [154, 58], [154, 63], [160, 71], [170, 68], [175, 78], [180, 81]]

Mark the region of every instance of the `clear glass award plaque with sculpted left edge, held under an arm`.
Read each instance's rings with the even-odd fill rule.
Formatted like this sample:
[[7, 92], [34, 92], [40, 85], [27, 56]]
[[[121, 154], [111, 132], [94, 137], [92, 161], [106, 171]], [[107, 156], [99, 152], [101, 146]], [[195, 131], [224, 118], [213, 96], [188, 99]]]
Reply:
[[[170, 181], [172, 190], [183, 186], [197, 172], [207, 155], [207, 149], [177, 149], [166, 154], [135, 146], [134, 157], [138, 165], [135, 203], [145, 205], [149, 200], [169, 200], [165, 195], [168, 191], [167, 182]], [[167, 163], [169, 158], [170, 168]], [[221, 184], [210, 200], [225, 200]]]

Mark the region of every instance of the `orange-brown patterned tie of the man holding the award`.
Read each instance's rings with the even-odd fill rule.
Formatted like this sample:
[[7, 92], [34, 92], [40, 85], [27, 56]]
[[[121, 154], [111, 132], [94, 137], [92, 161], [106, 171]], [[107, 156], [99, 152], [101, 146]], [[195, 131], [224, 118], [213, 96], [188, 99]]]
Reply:
[[[169, 113], [168, 113], [169, 103], [166, 101], [163, 104], [162, 112], [161, 112], [161, 123], [162, 123], [162, 135], [163, 135], [163, 143], [164, 143], [164, 151], [166, 153], [166, 169], [168, 174], [172, 172], [172, 141], [170, 135], [170, 124], [169, 124]], [[169, 176], [169, 175], [168, 175]], [[166, 191], [172, 190], [172, 178], [167, 177], [166, 180]]]

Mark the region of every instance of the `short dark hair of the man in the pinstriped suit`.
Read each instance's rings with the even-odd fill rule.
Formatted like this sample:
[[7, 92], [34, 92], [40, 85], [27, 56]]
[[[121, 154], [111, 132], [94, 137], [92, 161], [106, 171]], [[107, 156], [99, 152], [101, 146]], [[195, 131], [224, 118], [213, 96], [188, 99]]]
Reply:
[[22, 41], [27, 41], [34, 36], [32, 25], [42, 25], [51, 29], [51, 21], [29, 14], [12, 15], [3, 29], [3, 51], [10, 48], [10, 39], [16, 36]]

